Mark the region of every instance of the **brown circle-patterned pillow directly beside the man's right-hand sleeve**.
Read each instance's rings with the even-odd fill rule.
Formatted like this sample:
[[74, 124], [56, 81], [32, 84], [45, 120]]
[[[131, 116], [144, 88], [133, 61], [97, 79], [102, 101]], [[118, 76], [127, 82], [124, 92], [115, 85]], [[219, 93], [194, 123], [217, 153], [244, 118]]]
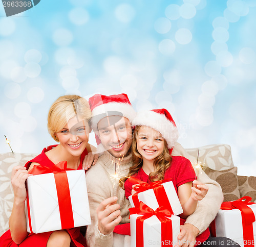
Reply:
[[220, 184], [224, 196], [224, 202], [234, 201], [240, 198], [237, 167], [221, 171], [212, 170], [208, 167], [203, 167], [202, 169], [209, 176], [209, 178]]

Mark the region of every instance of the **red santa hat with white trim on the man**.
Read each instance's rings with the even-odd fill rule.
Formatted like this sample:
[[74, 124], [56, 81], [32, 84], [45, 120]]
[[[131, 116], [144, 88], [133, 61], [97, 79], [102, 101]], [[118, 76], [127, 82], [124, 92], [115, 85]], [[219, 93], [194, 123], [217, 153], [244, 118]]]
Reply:
[[[124, 116], [132, 122], [136, 116], [136, 112], [132, 107], [131, 102], [127, 94], [113, 94], [113, 95], [102, 95], [95, 94], [89, 98], [89, 105], [92, 111], [92, 129], [97, 133], [98, 122], [106, 116]], [[95, 134], [96, 142], [99, 145], [101, 143], [97, 134]]]

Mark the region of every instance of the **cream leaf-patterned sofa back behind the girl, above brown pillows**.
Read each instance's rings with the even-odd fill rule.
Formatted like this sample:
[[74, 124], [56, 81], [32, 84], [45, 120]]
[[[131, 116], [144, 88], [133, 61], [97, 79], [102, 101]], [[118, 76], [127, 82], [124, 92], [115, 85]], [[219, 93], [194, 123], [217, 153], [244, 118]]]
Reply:
[[195, 157], [197, 162], [197, 155], [199, 149], [199, 164], [209, 167], [213, 170], [226, 170], [234, 167], [231, 147], [227, 144], [214, 144], [208, 146], [198, 147], [196, 149], [186, 149], [186, 152]]

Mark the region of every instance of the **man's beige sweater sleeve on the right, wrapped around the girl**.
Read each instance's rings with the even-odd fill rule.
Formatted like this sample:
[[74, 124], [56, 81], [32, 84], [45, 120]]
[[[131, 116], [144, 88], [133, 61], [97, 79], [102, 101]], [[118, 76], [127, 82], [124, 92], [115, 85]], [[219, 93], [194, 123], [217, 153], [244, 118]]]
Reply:
[[[176, 143], [172, 155], [184, 156], [190, 159], [191, 163], [194, 161], [194, 158], [189, 156], [179, 143]], [[195, 171], [197, 180], [207, 185], [209, 189], [204, 199], [198, 202], [196, 211], [187, 217], [185, 224], [189, 223], [195, 226], [199, 230], [199, 234], [201, 234], [217, 215], [223, 202], [223, 193], [221, 186], [210, 179], [202, 169], [195, 169]]]

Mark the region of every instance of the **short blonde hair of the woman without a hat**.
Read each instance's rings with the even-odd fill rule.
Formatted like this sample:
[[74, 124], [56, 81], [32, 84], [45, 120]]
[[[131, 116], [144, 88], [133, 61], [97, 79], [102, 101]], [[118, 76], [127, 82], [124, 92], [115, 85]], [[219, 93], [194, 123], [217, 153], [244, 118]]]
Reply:
[[48, 131], [55, 141], [59, 141], [55, 133], [61, 131], [74, 116], [90, 122], [92, 112], [88, 101], [78, 95], [64, 95], [57, 98], [48, 114]]

